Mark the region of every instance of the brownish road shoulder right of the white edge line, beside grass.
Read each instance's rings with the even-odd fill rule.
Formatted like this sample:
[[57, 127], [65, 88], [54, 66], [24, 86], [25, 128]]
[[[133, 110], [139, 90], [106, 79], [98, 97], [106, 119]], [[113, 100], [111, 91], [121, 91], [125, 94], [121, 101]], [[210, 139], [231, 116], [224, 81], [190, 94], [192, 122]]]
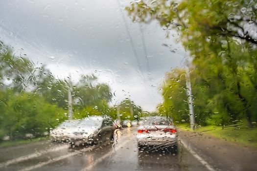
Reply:
[[255, 171], [257, 168], [255, 148], [183, 129], [179, 129], [179, 137], [216, 170]]

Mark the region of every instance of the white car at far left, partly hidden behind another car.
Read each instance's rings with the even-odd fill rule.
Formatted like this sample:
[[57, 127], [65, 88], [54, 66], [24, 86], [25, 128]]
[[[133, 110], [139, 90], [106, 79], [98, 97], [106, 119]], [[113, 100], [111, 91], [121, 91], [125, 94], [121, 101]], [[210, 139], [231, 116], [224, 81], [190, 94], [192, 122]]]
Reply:
[[65, 142], [69, 141], [70, 135], [75, 129], [80, 120], [64, 121], [62, 124], [50, 131], [50, 138], [54, 142]]

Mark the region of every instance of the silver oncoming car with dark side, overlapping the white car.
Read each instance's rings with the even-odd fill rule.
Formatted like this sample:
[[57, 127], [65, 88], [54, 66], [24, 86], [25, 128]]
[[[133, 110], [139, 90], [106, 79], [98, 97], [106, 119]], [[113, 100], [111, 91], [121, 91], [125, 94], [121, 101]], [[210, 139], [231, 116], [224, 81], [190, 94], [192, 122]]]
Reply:
[[96, 145], [107, 140], [113, 140], [113, 122], [110, 118], [102, 116], [89, 116], [81, 120], [70, 135], [70, 145]]

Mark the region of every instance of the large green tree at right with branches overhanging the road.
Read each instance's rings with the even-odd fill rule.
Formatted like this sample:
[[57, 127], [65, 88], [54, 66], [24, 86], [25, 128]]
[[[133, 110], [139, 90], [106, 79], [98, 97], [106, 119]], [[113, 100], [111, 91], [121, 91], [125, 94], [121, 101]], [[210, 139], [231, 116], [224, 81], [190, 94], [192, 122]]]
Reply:
[[[210, 117], [217, 110], [223, 120], [219, 124], [244, 117], [252, 127], [257, 115], [253, 110], [257, 93], [257, 8], [253, 0], [141, 0], [126, 10], [135, 21], [157, 20], [165, 30], [177, 30], [193, 57], [196, 83], [208, 90]], [[198, 85], [192, 89], [199, 94]], [[195, 98], [198, 102], [199, 97]]]

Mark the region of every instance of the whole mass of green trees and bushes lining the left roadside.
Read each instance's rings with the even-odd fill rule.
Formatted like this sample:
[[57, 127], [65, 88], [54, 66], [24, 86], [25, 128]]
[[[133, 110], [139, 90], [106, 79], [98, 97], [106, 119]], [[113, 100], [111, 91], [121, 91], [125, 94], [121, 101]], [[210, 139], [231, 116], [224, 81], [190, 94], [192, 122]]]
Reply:
[[74, 119], [117, 118], [117, 110], [109, 106], [110, 87], [94, 75], [82, 75], [78, 83], [56, 79], [45, 65], [36, 66], [0, 42], [0, 139], [42, 136], [67, 120], [71, 89]]

